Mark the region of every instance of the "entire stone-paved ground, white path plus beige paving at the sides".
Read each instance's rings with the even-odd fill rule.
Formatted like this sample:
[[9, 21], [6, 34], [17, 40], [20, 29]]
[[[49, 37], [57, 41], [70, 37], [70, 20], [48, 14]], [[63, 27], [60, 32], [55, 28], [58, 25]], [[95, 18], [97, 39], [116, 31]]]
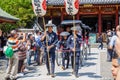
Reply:
[[[46, 76], [46, 67], [31, 66], [30, 72], [18, 80], [113, 80], [110, 72], [111, 63], [106, 62], [106, 49], [98, 50], [92, 48], [92, 54], [88, 57], [84, 67], [79, 69], [79, 78], [75, 78], [71, 74], [71, 67], [67, 70], [61, 70], [60, 66], [56, 65], [55, 78]], [[6, 60], [0, 59], [0, 80], [3, 80], [6, 69]]]

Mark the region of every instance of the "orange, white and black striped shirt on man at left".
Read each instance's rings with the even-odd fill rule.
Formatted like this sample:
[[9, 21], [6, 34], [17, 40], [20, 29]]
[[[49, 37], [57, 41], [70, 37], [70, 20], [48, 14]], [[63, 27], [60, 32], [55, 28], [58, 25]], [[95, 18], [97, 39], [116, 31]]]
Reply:
[[19, 43], [20, 43], [20, 41], [18, 39], [9, 38], [7, 41], [7, 46], [11, 46], [13, 49], [13, 52], [16, 53], [16, 52], [18, 52]]

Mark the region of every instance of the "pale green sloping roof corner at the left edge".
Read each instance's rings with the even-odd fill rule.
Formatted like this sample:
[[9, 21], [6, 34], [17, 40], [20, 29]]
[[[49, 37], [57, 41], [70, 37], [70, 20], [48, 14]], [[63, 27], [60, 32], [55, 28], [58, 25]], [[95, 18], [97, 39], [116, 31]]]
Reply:
[[0, 20], [3, 22], [16, 22], [19, 20], [19, 18], [16, 18], [16, 17], [10, 15], [9, 13], [3, 11], [0, 8]]

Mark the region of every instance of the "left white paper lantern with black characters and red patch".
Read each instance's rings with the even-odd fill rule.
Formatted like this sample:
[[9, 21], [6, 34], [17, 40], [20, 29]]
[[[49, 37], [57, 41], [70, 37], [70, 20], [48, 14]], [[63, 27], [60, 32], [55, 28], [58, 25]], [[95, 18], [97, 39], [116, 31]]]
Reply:
[[36, 16], [44, 16], [46, 14], [46, 0], [32, 0], [33, 11]]

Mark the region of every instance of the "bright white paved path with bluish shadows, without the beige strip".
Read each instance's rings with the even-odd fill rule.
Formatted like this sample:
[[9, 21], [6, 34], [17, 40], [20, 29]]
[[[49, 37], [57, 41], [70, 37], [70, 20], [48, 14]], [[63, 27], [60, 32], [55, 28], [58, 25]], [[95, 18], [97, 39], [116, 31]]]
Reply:
[[35, 73], [28, 73], [25, 77], [19, 78], [18, 80], [100, 80], [100, 51], [96, 48], [92, 48], [91, 52], [88, 60], [85, 61], [85, 65], [79, 69], [79, 78], [75, 78], [75, 76], [71, 74], [71, 67], [63, 71], [61, 67], [57, 65], [55, 67], [56, 77], [51, 78], [51, 76], [46, 76], [46, 66], [43, 65], [37, 67]]

